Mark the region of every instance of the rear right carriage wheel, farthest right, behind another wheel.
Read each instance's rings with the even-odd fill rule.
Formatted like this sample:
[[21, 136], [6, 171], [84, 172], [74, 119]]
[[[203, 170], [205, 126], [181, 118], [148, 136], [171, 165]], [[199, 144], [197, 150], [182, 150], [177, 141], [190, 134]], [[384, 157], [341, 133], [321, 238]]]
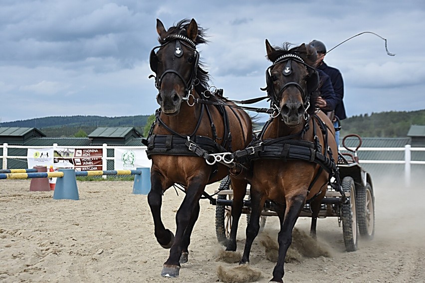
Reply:
[[372, 240], [375, 235], [375, 200], [369, 183], [366, 187], [357, 188], [356, 201], [360, 236], [362, 239]]

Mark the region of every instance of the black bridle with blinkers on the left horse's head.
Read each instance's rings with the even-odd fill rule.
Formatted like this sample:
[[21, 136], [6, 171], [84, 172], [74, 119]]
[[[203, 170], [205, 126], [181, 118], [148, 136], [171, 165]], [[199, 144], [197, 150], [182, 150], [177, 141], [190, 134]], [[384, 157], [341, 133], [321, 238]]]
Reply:
[[[183, 30], [182, 30], [183, 31]], [[198, 64], [199, 64], [199, 52], [196, 50], [196, 44], [195, 42], [193, 42], [191, 39], [189, 39], [188, 37], [182, 35], [182, 34], [170, 34], [168, 35], [166, 38], [164, 38], [165, 43], [154, 47], [151, 50], [151, 55], [149, 58], [149, 63], [151, 66], [151, 70], [156, 74], [156, 76], [154, 75], [150, 75], [149, 78], [154, 77], [155, 78], [155, 87], [158, 89], [158, 91], [161, 91], [161, 82], [164, 79], [164, 77], [167, 74], [175, 74], [177, 75], [183, 82], [183, 84], [185, 85], [185, 98], [187, 99], [189, 94], [192, 92], [194, 86], [199, 84], [199, 79], [197, 79], [197, 70], [198, 70]], [[188, 81], [186, 81], [183, 76], [174, 69], [167, 69], [164, 71], [164, 73], [161, 74], [161, 76], [158, 75], [158, 56], [157, 53], [155, 52], [156, 49], [162, 48], [164, 46], [166, 46], [167, 44], [169, 44], [170, 42], [176, 42], [176, 46], [175, 46], [175, 51], [174, 51], [174, 56], [180, 58], [183, 56], [183, 49], [182, 49], [182, 44], [185, 45], [186, 47], [188, 47], [189, 49], [191, 49], [194, 52], [194, 66], [192, 68], [192, 72], [191, 72], [191, 77], [189, 78]]]

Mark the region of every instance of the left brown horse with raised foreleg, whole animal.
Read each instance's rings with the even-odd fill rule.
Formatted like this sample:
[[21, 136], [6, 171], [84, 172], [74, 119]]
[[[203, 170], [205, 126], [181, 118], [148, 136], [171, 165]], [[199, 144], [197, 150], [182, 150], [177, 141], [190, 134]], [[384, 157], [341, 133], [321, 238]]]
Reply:
[[[244, 148], [252, 140], [252, 125], [244, 111], [212, 105], [234, 104], [209, 90], [209, 76], [201, 68], [196, 50], [199, 43], [206, 42], [205, 30], [194, 19], [184, 19], [168, 30], [157, 19], [157, 32], [161, 45], [152, 50], [150, 64], [156, 74], [157, 102], [161, 108], [148, 140], [147, 152], [152, 158], [148, 202], [155, 237], [162, 247], [171, 248], [161, 275], [178, 277], [180, 263], [188, 261], [190, 236], [205, 186], [229, 173], [223, 162], [219, 163], [220, 158], [214, 159], [209, 154]], [[196, 103], [199, 101], [211, 103]], [[206, 159], [210, 164], [217, 159], [218, 162], [210, 165]], [[236, 225], [232, 227], [227, 249], [234, 251], [247, 183], [243, 178], [231, 178], [235, 199], [232, 218]], [[161, 204], [163, 193], [175, 183], [185, 187], [186, 196], [176, 215], [174, 236], [161, 220]]]

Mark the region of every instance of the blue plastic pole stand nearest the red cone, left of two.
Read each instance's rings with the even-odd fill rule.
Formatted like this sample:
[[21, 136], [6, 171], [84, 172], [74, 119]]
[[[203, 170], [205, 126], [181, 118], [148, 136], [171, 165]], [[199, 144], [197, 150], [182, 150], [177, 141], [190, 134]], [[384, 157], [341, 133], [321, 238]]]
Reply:
[[63, 177], [56, 180], [53, 199], [79, 200], [75, 169], [59, 168], [59, 172], [63, 172]]

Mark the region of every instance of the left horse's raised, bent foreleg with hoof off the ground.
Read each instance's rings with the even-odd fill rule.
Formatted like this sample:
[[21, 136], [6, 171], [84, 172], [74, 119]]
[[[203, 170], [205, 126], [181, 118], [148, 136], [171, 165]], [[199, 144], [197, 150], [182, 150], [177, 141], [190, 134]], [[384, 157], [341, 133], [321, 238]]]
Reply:
[[148, 194], [148, 203], [151, 208], [152, 216], [154, 218], [155, 225], [155, 237], [157, 238], [158, 243], [164, 249], [170, 249], [173, 245], [174, 234], [168, 229], [165, 229], [164, 224], [161, 220], [161, 205], [162, 205], [162, 195], [164, 193], [161, 175], [156, 171], [151, 173], [151, 191]]

